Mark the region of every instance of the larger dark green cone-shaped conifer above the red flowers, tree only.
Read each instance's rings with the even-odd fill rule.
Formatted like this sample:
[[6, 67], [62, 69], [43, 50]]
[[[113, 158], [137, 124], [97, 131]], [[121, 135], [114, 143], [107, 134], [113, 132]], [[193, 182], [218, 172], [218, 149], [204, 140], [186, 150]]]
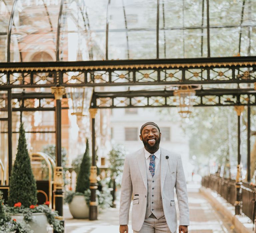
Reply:
[[15, 203], [21, 202], [24, 207], [29, 207], [37, 204], [37, 188], [27, 150], [23, 123], [20, 125], [19, 134], [18, 151], [10, 177], [8, 203], [13, 206]]

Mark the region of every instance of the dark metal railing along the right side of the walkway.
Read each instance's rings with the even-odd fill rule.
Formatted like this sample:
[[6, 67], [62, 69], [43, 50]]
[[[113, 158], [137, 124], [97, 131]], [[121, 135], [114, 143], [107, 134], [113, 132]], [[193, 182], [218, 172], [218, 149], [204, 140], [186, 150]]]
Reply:
[[[236, 201], [236, 181], [220, 177], [218, 175], [209, 175], [202, 178], [202, 186], [216, 191], [231, 205]], [[241, 210], [253, 222], [256, 214], [256, 186], [248, 182], [241, 182]]]

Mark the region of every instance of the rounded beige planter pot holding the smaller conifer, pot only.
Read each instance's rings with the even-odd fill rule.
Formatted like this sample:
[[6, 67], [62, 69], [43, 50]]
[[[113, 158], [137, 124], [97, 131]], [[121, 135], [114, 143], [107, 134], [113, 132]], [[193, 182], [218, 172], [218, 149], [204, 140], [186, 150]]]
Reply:
[[68, 207], [73, 218], [89, 218], [89, 206], [86, 204], [84, 195], [75, 195]]

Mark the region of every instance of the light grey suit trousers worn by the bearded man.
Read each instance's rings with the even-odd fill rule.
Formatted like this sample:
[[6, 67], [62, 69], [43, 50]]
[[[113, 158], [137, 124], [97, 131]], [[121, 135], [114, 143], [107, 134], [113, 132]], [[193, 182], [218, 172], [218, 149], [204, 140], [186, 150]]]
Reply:
[[[151, 214], [144, 220], [140, 231], [133, 231], [133, 233], [171, 233], [171, 231], [164, 216], [157, 219], [155, 215]], [[176, 231], [172, 233], [176, 233]]]

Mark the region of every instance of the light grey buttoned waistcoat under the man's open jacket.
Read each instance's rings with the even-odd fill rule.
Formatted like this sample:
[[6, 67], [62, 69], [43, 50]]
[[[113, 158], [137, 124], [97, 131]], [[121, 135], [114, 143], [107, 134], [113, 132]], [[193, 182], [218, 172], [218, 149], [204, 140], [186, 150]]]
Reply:
[[[161, 157], [160, 157], [161, 159]], [[148, 196], [147, 196], [147, 209], [145, 218], [148, 218], [152, 213], [157, 219], [164, 216], [162, 196], [161, 196], [161, 185], [160, 185], [160, 161], [157, 164], [156, 173], [152, 177], [148, 167], [147, 180], [148, 180]]]

